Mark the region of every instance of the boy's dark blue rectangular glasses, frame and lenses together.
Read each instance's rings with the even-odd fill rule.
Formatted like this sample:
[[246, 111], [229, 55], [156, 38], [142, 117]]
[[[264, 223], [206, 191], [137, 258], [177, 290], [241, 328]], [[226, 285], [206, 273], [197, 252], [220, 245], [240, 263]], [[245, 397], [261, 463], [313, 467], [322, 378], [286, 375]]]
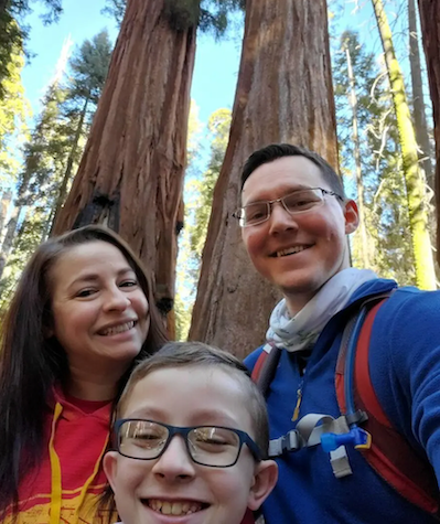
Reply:
[[191, 459], [197, 464], [229, 468], [237, 462], [244, 443], [257, 461], [261, 460], [260, 449], [247, 432], [222, 426], [180, 428], [154, 420], [124, 418], [115, 423], [114, 435], [118, 452], [130, 459], [157, 459], [171, 439], [181, 435]]

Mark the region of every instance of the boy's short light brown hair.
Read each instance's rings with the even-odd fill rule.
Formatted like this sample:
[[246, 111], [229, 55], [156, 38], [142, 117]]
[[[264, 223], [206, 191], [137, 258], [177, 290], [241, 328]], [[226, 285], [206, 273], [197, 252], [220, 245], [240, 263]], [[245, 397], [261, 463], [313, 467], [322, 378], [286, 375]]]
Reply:
[[247, 367], [237, 357], [203, 342], [169, 342], [158, 353], [138, 364], [119, 399], [117, 418], [122, 417], [125, 406], [135, 386], [147, 375], [158, 370], [186, 366], [221, 366], [229, 375], [237, 377], [246, 396], [246, 407], [255, 431], [254, 440], [262, 451], [262, 458], [266, 458], [269, 448], [269, 423], [265, 398], [251, 381]]

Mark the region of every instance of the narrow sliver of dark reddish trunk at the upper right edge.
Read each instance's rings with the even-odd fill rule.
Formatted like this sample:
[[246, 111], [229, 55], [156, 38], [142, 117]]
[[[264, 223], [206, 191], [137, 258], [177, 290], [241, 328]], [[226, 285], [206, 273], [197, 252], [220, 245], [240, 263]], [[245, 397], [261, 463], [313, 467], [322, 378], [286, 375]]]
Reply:
[[440, 10], [437, 0], [419, 0], [436, 137], [437, 263], [440, 265]]

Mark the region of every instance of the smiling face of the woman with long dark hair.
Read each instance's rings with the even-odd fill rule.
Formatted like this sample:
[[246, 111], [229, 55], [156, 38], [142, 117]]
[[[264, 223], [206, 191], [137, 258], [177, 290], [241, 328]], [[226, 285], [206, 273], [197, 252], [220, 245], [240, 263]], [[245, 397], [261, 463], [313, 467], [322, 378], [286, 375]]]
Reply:
[[112, 244], [93, 240], [65, 252], [50, 272], [52, 334], [71, 370], [87, 373], [130, 366], [147, 338], [147, 297]]

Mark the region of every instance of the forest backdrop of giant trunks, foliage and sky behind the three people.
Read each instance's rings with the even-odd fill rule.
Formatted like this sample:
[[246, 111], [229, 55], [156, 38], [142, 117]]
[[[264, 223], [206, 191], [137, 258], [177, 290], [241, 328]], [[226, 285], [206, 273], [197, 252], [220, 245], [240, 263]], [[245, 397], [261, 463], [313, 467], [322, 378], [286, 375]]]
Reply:
[[230, 212], [243, 161], [271, 141], [339, 165], [359, 204], [354, 266], [438, 287], [414, 0], [88, 3], [0, 0], [3, 310], [41, 242], [98, 222], [151, 268], [171, 335], [248, 353], [278, 293]]

